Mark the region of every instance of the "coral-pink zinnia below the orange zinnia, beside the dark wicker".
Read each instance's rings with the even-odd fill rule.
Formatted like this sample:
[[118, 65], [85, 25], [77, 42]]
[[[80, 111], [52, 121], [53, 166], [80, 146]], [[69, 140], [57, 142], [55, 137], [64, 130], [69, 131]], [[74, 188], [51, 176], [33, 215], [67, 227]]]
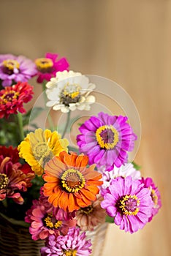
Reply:
[[[69, 227], [76, 225], [75, 219], [57, 219], [58, 209], [54, 211], [45, 198], [40, 197], [32, 203], [31, 208], [26, 211], [25, 221], [30, 223], [29, 232], [33, 240], [45, 239], [52, 234], [65, 236]], [[61, 212], [60, 216], [63, 217]]]

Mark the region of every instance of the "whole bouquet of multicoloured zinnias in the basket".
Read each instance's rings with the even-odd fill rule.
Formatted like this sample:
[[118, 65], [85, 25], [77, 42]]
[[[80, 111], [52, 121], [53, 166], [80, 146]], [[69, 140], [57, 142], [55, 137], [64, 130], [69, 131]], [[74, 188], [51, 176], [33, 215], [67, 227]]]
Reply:
[[[99, 111], [79, 124], [77, 147], [69, 145], [70, 114], [91, 109], [96, 85], [57, 58], [0, 55], [0, 216], [23, 220], [34, 241], [45, 241], [42, 256], [91, 255], [88, 232], [104, 222], [137, 232], [158, 213], [161, 197], [152, 178], [129, 162], [137, 136], [128, 117]], [[34, 124], [42, 108], [23, 106], [35, 76], [49, 129]], [[67, 116], [61, 134], [50, 108]]]

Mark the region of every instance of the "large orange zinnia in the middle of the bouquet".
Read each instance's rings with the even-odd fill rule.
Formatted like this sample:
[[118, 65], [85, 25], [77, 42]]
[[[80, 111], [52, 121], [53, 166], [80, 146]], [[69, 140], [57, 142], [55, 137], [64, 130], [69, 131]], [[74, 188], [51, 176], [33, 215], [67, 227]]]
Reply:
[[96, 165], [87, 165], [87, 156], [65, 151], [47, 162], [43, 176], [46, 181], [44, 195], [53, 206], [72, 212], [96, 200], [102, 175], [94, 170]]

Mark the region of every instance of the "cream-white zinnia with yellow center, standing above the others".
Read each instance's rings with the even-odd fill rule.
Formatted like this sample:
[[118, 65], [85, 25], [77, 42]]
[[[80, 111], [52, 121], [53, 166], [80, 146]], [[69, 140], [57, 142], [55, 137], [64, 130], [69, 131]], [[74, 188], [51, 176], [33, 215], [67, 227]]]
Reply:
[[90, 110], [90, 105], [95, 102], [95, 97], [89, 94], [96, 86], [80, 72], [57, 72], [56, 78], [51, 78], [46, 87], [49, 99], [46, 105], [53, 107], [53, 110], [63, 113], [76, 109]]

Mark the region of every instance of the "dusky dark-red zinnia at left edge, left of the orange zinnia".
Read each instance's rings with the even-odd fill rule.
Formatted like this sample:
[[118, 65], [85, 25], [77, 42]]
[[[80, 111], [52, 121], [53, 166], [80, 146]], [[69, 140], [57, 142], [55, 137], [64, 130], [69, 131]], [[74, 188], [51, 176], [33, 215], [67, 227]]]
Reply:
[[0, 200], [12, 197], [15, 203], [23, 204], [20, 192], [26, 192], [31, 187], [34, 173], [24, 173], [22, 169], [24, 167], [19, 162], [13, 163], [10, 157], [0, 156]]

